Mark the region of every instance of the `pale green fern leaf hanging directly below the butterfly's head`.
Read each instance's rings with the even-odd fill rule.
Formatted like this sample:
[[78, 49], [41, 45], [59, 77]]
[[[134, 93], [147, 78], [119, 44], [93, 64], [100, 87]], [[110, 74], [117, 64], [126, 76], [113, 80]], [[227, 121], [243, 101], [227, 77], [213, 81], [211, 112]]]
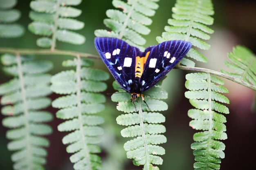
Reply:
[[[111, 96], [112, 101], [119, 102], [117, 110], [128, 113], [117, 117], [117, 124], [128, 126], [121, 130], [121, 135], [123, 137], [137, 137], [124, 144], [127, 157], [133, 159], [133, 163], [136, 166], [144, 165], [145, 170], [149, 168], [159, 169], [152, 164], [161, 165], [163, 162], [162, 158], [157, 155], [164, 155], [165, 150], [157, 145], [166, 142], [166, 137], [160, 135], [166, 131], [165, 127], [160, 124], [165, 121], [165, 117], [160, 113], [142, 112], [142, 110], [167, 110], [167, 104], [158, 100], [166, 99], [167, 92], [159, 85], [155, 86], [144, 94], [148, 107], [144, 103], [141, 104], [141, 98], [138, 98], [139, 102], [134, 102], [135, 108], [130, 102], [131, 95], [121, 89], [117, 82], [114, 82], [113, 86], [118, 92]], [[139, 113], [135, 113], [138, 109]]]

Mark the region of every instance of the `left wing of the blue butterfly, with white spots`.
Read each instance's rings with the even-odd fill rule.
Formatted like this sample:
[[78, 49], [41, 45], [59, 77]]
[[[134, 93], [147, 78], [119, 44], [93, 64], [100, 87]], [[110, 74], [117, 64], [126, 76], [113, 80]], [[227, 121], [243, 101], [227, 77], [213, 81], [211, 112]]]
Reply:
[[139, 49], [117, 38], [95, 38], [94, 44], [110, 73], [120, 86], [130, 91], [130, 84], [135, 80], [136, 53]]

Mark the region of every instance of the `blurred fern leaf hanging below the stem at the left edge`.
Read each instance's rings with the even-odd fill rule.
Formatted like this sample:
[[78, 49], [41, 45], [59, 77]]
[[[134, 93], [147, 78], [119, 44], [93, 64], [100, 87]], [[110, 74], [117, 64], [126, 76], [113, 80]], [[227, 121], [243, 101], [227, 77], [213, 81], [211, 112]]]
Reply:
[[35, 61], [31, 56], [1, 56], [3, 70], [14, 76], [0, 85], [2, 120], [7, 130], [8, 150], [15, 170], [43, 170], [46, 163], [49, 141], [42, 135], [49, 135], [52, 128], [45, 124], [52, 120], [52, 114], [41, 109], [47, 108], [51, 100], [49, 83], [51, 75], [45, 74], [52, 63]]

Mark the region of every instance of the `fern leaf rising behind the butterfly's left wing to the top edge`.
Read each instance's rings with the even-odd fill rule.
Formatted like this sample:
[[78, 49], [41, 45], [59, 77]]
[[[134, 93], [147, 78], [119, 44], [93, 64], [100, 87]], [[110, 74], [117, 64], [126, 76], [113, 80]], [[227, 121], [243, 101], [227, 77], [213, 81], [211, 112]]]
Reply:
[[146, 40], [141, 35], [148, 35], [150, 29], [147, 27], [152, 23], [149, 17], [155, 15], [158, 9], [158, 0], [113, 0], [114, 7], [122, 9], [109, 9], [106, 11], [108, 19], [104, 24], [112, 31], [98, 29], [94, 32], [97, 37], [114, 37], [126, 41], [131, 46], [137, 46], [144, 51], [143, 45]]

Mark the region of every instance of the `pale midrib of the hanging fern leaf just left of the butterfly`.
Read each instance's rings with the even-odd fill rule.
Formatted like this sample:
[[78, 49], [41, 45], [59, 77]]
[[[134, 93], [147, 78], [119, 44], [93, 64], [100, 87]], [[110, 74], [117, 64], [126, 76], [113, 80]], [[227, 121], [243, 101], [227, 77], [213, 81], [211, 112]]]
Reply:
[[77, 65], [76, 65], [76, 99], [77, 99], [77, 110], [78, 110], [78, 119], [79, 119], [79, 130], [81, 132], [81, 137], [83, 141], [83, 148], [85, 152], [85, 158], [87, 159], [87, 170], [92, 170], [91, 165], [91, 157], [89, 153], [89, 149], [87, 147], [87, 142], [85, 139], [85, 133], [83, 130], [83, 117], [82, 117], [82, 110], [81, 110], [81, 77], [80, 77], [80, 71], [81, 71], [81, 57], [77, 55]]

